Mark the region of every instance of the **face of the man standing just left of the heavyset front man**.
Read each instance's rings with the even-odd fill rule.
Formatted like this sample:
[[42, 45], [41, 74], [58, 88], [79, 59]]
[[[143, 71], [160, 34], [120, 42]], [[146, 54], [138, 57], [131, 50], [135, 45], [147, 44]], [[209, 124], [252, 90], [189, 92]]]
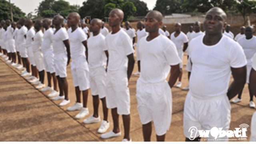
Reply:
[[149, 13], [145, 17], [146, 32], [156, 32], [160, 26], [160, 23], [155, 18], [153, 13]]

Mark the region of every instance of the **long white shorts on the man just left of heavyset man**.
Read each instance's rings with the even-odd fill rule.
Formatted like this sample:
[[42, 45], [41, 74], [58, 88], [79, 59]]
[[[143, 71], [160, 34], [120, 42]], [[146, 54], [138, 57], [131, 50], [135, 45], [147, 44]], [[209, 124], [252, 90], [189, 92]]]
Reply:
[[136, 98], [141, 123], [153, 121], [156, 135], [166, 134], [172, 120], [172, 91], [168, 82], [150, 84], [138, 80]]

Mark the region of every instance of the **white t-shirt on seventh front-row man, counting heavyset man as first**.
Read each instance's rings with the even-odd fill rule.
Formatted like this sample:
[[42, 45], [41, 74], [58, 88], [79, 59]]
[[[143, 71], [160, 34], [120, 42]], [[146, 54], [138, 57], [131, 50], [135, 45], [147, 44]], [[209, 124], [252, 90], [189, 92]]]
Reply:
[[44, 38], [42, 41], [43, 52], [46, 52], [48, 50], [52, 51], [52, 35], [53, 35], [52, 28], [48, 28], [48, 30], [44, 32]]

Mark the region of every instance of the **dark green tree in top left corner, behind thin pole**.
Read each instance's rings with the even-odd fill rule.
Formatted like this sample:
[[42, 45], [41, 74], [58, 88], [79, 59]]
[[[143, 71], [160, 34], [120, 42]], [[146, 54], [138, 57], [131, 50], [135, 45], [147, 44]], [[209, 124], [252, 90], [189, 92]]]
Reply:
[[[12, 5], [12, 14], [13, 14], [13, 20], [18, 21], [20, 18], [23, 18], [26, 16], [20, 8], [15, 6], [14, 4]], [[11, 14], [10, 14], [10, 5], [9, 2], [6, 0], [0, 0], [0, 20], [11, 20]]]

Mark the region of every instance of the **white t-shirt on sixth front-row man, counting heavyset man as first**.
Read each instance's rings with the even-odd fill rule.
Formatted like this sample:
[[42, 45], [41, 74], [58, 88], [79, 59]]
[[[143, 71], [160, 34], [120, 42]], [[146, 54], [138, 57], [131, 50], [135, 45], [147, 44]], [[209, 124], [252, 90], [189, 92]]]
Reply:
[[55, 55], [66, 53], [66, 47], [63, 43], [64, 40], [68, 40], [68, 32], [65, 28], [60, 28], [52, 35], [52, 47]]

